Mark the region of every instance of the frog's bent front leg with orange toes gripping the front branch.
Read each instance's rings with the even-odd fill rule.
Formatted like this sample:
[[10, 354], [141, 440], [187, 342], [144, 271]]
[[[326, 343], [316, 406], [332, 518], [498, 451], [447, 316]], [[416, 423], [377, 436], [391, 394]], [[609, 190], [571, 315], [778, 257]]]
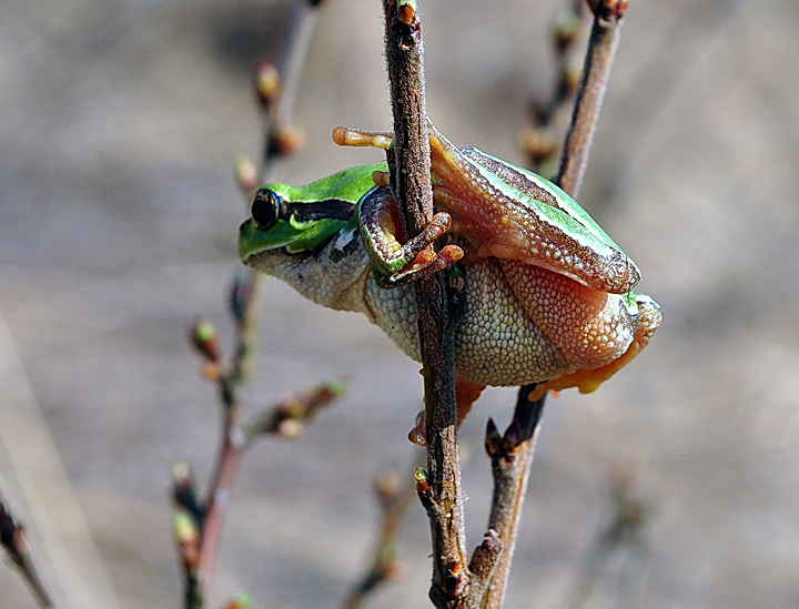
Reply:
[[383, 287], [396, 287], [427, 277], [464, 255], [457, 245], [445, 245], [438, 252], [429, 248], [449, 230], [452, 219], [446, 212], [435, 214], [418, 235], [402, 244], [400, 238], [404, 235], [400, 214], [386, 186], [375, 186], [367, 192], [358, 202], [357, 214], [364, 245]]

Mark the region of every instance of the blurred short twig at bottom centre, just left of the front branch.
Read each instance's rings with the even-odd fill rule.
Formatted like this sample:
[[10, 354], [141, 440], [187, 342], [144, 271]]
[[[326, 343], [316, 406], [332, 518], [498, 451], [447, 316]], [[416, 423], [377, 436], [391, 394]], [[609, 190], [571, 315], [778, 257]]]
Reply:
[[[414, 470], [422, 465], [422, 459], [416, 460], [419, 463], [414, 466]], [[381, 583], [397, 577], [397, 571], [401, 570], [397, 560], [397, 537], [407, 510], [416, 497], [416, 480], [413, 476], [401, 478], [394, 470], [384, 471], [377, 477], [375, 495], [383, 508], [383, 517], [377, 530], [372, 561], [347, 593], [341, 606], [342, 609], [360, 609]]]

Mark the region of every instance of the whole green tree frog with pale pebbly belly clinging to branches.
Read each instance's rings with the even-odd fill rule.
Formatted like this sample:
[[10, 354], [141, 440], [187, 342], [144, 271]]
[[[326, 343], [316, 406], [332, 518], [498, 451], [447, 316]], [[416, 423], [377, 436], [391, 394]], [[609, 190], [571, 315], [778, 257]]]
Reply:
[[[337, 128], [333, 138], [391, 146], [386, 133]], [[596, 389], [661, 321], [659, 306], [633, 292], [636, 265], [557, 185], [458, 150], [432, 124], [429, 141], [438, 213], [418, 237], [403, 234], [386, 164], [361, 165], [300, 187], [263, 186], [240, 229], [242, 261], [318, 304], [363, 313], [418, 361], [409, 282], [459, 260], [458, 380], [538, 383], [538, 395]], [[445, 234], [449, 243], [431, 253]]]

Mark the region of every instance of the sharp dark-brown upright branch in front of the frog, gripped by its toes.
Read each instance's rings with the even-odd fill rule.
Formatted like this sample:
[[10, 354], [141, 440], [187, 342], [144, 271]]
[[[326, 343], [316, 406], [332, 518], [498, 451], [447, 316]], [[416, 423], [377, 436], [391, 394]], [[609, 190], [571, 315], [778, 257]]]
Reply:
[[[433, 215], [424, 45], [414, 0], [384, 0], [383, 9], [394, 118], [392, 190], [413, 236]], [[444, 282], [438, 273], [414, 284], [427, 437], [427, 471], [417, 473], [417, 479], [433, 538], [431, 598], [437, 607], [454, 607], [468, 588], [468, 575], [456, 440], [455, 341]]]

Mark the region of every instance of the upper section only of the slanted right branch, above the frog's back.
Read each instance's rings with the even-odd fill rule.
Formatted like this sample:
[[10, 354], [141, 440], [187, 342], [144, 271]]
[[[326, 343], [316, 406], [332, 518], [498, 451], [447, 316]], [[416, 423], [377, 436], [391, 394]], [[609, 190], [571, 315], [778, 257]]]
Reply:
[[594, 13], [583, 78], [577, 90], [572, 123], [560, 152], [560, 166], [555, 176], [572, 196], [577, 196], [588, 164], [588, 150], [596, 129], [599, 109], [607, 88], [610, 67], [618, 47], [621, 18], [627, 0], [588, 0]]

